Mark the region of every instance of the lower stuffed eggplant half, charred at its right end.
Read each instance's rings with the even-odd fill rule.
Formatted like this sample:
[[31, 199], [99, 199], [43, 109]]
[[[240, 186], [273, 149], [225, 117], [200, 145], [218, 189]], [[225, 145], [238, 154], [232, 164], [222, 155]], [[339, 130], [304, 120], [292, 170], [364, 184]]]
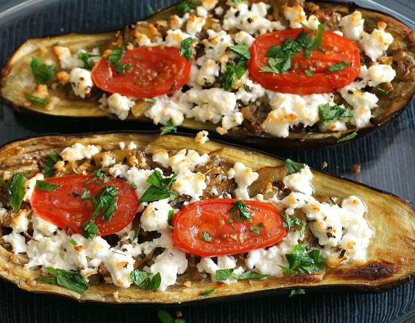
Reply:
[[168, 304], [415, 272], [407, 202], [205, 134], [35, 137], [0, 174], [0, 275], [28, 291]]

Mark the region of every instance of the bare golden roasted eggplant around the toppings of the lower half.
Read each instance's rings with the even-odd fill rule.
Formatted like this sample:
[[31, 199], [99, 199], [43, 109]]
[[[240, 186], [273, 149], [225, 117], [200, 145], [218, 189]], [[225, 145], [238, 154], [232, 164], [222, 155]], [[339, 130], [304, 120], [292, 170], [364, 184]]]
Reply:
[[[0, 147], [0, 173], [3, 170], [39, 171], [37, 161], [48, 153], [59, 153], [75, 142], [95, 144], [103, 150], [118, 147], [120, 141], [134, 141], [140, 148], [151, 153], [154, 149], [180, 150], [189, 148], [199, 153], [213, 153], [234, 162], [241, 161], [254, 170], [266, 166], [281, 166], [284, 161], [255, 150], [230, 146], [210, 140], [203, 145], [196, 144], [189, 135], [164, 135], [155, 132], [98, 133], [93, 135], [46, 135], [20, 141], [13, 141]], [[29, 286], [30, 277], [40, 275], [39, 270], [26, 270], [24, 255], [14, 255], [0, 246], [0, 276], [19, 288], [39, 293], [55, 293], [72, 297], [78, 301], [122, 302], [140, 304], [178, 304], [199, 301], [254, 297], [268, 294], [287, 293], [292, 288], [308, 291], [354, 291], [381, 292], [409, 282], [415, 274], [415, 211], [409, 202], [364, 184], [342, 179], [313, 170], [315, 193], [330, 197], [357, 195], [367, 205], [365, 215], [374, 230], [364, 264], [344, 264], [329, 269], [324, 275], [295, 275], [267, 280], [241, 281], [224, 285], [210, 281], [192, 282], [170, 286], [167, 292], [142, 291], [131, 286], [118, 288], [109, 284], [91, 286], [84, 295], [78, 295], [59, 286], [37, 283]], [[0, 226], [1, 235], [1, 226]], [[210, 296], [200, 296], [201, 291], [215, 289]], [[114, 294], [118, 291], [118, 297]]]

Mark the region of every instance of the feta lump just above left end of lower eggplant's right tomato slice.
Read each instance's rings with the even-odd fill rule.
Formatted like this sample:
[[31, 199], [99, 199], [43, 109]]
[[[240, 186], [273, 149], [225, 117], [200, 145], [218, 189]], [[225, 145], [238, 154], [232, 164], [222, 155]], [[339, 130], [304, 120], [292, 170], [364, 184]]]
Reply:
[[181, 173], [172, 185], [172, 190], [178, 195], [187, 195], [192, 197], [192, 202], [198, 201], [203, 195], [203, 190], [208, 187], [205, 183], [205, 175], [202, 173], [192, 173], [189, 169]]

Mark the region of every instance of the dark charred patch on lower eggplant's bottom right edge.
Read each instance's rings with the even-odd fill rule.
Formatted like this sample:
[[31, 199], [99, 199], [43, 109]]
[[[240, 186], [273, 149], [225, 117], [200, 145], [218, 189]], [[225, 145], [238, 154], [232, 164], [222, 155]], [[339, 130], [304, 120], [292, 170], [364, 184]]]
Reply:
[[398, 266], [391, 264], [390, 262], [370, 262], [363, 266], [337, 269], [333, 274], [347, 280], [356, 278], [379, 280], [394, 275], [396, 271], [398, 271]]

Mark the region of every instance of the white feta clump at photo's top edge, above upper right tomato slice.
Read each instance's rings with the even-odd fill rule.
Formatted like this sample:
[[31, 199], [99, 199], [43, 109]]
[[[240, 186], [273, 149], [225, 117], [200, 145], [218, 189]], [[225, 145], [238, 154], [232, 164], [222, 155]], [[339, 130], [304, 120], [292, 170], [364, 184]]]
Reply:
[[284, 26], [279, 21], [266, 19], [269, 8], [270, 6], [264, 2], [252, 3], [251, 8], [248, 3], [239, 2], [236, 6], [229, 8], [223, 17], [223, 29], [237, 28], [249, 32], [251, 35], [283, 30]]

